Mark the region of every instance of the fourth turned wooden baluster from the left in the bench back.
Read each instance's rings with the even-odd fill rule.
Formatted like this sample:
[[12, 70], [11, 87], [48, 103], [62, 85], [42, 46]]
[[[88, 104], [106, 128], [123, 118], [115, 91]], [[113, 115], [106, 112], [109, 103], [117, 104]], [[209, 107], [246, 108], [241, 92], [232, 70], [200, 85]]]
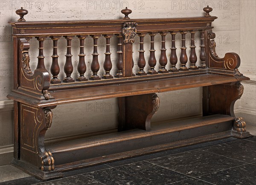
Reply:
[[79, 72], [79, 77], [76, 79], [76, 81], [87, 81], [88, 79], [84, 76], [84, 73], [86, 72], [86, 64], [84, 61], [84, 39], [86, 38], [86, 35], [77, 35], [77, 37], [80, 40], [80, 52], [79, 52], [79, 62], [77, 65], [77, 71]]

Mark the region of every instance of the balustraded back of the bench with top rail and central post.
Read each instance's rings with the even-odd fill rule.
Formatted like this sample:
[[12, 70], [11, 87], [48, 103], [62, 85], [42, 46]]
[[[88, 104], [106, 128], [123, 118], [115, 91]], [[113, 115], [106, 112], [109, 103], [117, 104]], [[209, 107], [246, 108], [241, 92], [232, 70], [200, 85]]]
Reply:
[[[140, 78], [167, 78], [172, 75], [189, 74], [189, 72], [201, 74], [207, 67], [207, 37], [205, 35], [212, 29], [212, 21], [217, 18], [209, 15], [210, 9], [207, 8], [204, 11], [207, 13], [204, 17], [172, 19], [130, 20], [128, 14], [131, 13], [131, 10], [125, 9], [123, 11], [125, 17], [120, 20], [11, 21], [13, 34], [16, 36], [14, 40], [16, 43], [16, 69], [19, 70], [19, 66], [22, 66], [23, 69], [29, 67], [29, 61], [22, 56], [23, 48], [20, 48], [20, 39], [28, 41], [35, 37], [39, 46], [36, 69], [46, 69], [44, 41], [51, 40], [52, 60], [49, 73], [52, 76], [50, 80], [52, 88], [59, 88], [61, 84], [82, 86], [104, 84], [106, 81], [127, 81], [126, 78], [139, 81]], [[200, 36], [200, 45], [198, 46], [195, 43], [196, 34]], [[139, 38], [140, 49], [138, 51], [133, 51], [135, 35], [138, 35]], [[177, 40], [178, 35], [180, 35], [180, 40]], [[189, 39], [186, 37], [187, 35], [189, 35]], [[150, 46], [146, 46], [144, 42], [147, 37], [150, 39]], [[157, 37], [160, 38], [160, 42], [155, 41]], [[84, 47], [85, 41], [89, 38], [93, 40], [93, 44], [90, 45], [90, 48], [93, 49], [92, 53], [89, 53], [87, 47]], [[105, 40], [104, 53], [98, 52], [99, 38]], [[65, 62], [59, 61], [58, 41], [60, 39], [66, 40]], [[111, 40], [115, 40], [115, 42], [111, 42]], [[178, 41], [181, 41], [180, 48], [176, 48]], [[78, 47], [80, 50], [75, 53], [73, 47]], [[196, 47], [200, 47], [200, 54], [197, 54]], [[114, 55], [113, 52], [115, 52]], [[160, 54], [157, 57], [156, 52]], [[29, 54], [29, 52], [27, 53]], [[99, 55], [105, 55], [105, 60], [99, 60]], [[90, 60], [88, 60], [89, 57]], [[78, 64], [74, 65], [74, 61], [77, 61]], [[89, 61], [90, 66], [88, 65]], [[112, 61], [115, 61], [114, 65]], [[64, 64], [63, 68], [60, 67], [60, 62]], [[77, 68], [74, 69], [74, 66]], [[135, 75], [133, 73], [134, 66], [138, 67]], [[170, 67], [166, 68], [166, 66]], [[25, 72], [28, 73], [28, 71]], [[65, 73], [64, 78], [60, 76], [62, 72]], [[76, 75], [73, 75], [74, 73]], [[19, 86], [19, 81], [18, 77], [15, 78], [16, 88]]]

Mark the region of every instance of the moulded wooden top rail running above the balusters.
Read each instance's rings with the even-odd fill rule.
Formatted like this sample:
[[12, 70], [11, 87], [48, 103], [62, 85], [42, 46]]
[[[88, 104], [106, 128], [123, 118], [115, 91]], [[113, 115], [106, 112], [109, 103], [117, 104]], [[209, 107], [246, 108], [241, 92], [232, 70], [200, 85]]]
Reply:
[[[23, 10], [23, 9], [22, 9]], [[206, 11], [205, 11], [206, 12]], [[17, 13], [17, 12], [16, 12]], [[18, 12], [17, 14], [21, 14]], [[24, 14], [24, 13], [23, 13]], [[22, 18], [23, 16], [20, 15]], [[127, 16], [128, 17], [128, 16]], [[212, 22], [217, 19], [208, 15], [201, 17], [179, 17], [163, 19], [117, 20], [69, 20], [69, 21], [9, 21], [13, 27], [13, 36], [52, 36], [52, 35], [91, 35], [120, 34], [124, 23], [136, 22], [137, 32], [165, 32], [194, 29], [212, 29]]]

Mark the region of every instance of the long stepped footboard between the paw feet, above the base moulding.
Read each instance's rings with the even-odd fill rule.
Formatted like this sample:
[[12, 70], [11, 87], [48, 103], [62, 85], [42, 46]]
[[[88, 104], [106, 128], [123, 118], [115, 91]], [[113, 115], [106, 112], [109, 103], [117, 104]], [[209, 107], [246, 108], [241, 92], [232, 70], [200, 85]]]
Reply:
[[[79, 165], [81, 168], [80, 163], [83, 160], [87, 161], [87, 165], [95, 165], [107, 162], [110, 158], [111, 160], [118, 160], [142, 155], [146, 150], [147, 153], [157, 152], [163, 149], [160, 145], [232, 130], [231, 121], [234, 119], [231, 116], [219, 114], [156, 124], [151, 126], [150, 131], [134, 129], [65, 142], [48, 143], [45, 147], [52, 152], [56, 169], [69, 169], [67, 163], [71, 166]], [[164, 149], [167, 150], [168, 147]], [[142, 151], [138, 152], [137, 150]], [[123, 155], [119, 155], [120, 153]], [[90, 164], [92, 159], [95, 159], [95, 162]]]

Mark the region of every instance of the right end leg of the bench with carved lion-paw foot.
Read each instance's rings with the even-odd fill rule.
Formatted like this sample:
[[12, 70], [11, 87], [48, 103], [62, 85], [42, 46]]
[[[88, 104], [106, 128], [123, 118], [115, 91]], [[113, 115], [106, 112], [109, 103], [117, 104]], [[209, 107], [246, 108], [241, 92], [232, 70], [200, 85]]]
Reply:
[[[232, 84], [218, 84], [203, 87], [203, 116], [212, 114], [225, 114], [236, 117], [234, 104], [241, 98], [244, 87], [240, 82]], [[233, 120], [233, 136], [246, 138], [250, 136], [246, 132], [245, 122], [242, 118]]]

